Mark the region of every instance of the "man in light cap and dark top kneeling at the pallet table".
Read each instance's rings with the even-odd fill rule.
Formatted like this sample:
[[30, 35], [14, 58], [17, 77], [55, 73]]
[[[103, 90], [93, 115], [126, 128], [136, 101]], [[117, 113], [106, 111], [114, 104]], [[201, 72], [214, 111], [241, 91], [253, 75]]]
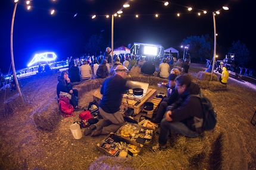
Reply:
[[84, 131], [85, 136], [98, 136], [117, 131], [124, 125], [123, 115], [119, 112], [124, 91], [129, 89], [125, 79], [128, 69], [123, 65], [115, 68], [115, 75], [105, 79], [101, 86], [102, 100], [99, 104], [99, 113], [103, 117], [98, 123], [91, 125]]

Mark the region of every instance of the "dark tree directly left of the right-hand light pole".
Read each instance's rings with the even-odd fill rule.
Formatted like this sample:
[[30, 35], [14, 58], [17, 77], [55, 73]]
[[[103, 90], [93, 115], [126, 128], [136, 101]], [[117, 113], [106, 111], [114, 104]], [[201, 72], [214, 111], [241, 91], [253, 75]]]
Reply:
[[192, 60], [204, 62], [205, 59], [213, 58], [213, 39], [208, 34], [187, 37], [182, 44], [190, 45], [188, 52]]

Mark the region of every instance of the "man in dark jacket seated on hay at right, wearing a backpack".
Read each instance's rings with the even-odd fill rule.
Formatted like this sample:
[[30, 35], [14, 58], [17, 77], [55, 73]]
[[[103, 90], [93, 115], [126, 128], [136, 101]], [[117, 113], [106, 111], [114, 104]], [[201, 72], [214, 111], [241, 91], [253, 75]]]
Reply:
[[168, 107], [166, 118], [161, 121], [161, 129], [158, 138], [159, 145], [149, 147], [149, 151], [167, 149], [167, 139], [170, 130], [184, 134], [187, 137], [197, 137], [202, 133], [202, 127], [193, 126], [195, 118], [203, 118], [202, 105], [198, 97], [188, 97], [199, 94], [200, 88], [191, 81], [188, 75], [182, 74], [176, 78], [176, 89], [180, 99], [171, 107]]

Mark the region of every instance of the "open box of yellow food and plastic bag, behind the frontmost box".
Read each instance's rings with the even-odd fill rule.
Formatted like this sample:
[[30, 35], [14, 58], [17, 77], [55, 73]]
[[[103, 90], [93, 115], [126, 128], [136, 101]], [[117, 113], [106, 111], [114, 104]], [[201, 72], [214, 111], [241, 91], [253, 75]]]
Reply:
[[[121, 130], [124, 129], [124, 127], [127, 126], [133, 126], [136, 127], [136, 130], [139, 130], [138, 134], [136, 136], [122, 136]], [[143, 145], [143, 147], [148, 147], [154, 138], [155, 131], [152, 128], [149, 127], [143, 127], [139, 126], [138, 124], [134, 123], [126, 123], [124, 126], [120, 127], [120, 129], [117, 130], [116, 134], [118, 136], [124, 137], [125, 139], [129, 140], [130, 142], [136, 142], [138, 144]]]

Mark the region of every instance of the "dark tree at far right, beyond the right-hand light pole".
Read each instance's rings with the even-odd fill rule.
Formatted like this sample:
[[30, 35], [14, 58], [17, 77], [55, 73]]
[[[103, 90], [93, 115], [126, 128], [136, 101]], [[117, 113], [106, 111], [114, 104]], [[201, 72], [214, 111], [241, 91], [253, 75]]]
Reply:
[[235, 60], [239, 63], [239, 66], [246, 66], [249, 64], [251, 57], [249, 56], [249, 50], [246, 48], [244, 43], [240, 41], [233, 41], [232, 47], [229, 49], [229, 53], [235, 54]]

